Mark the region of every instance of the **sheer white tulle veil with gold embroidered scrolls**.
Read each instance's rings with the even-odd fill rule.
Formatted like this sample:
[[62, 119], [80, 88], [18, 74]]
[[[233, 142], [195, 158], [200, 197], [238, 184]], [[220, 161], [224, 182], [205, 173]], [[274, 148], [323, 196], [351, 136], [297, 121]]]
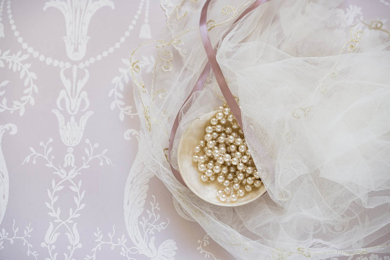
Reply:
[[[227, 30], [252, 1], [215, 2], [209, 34], [268, 193], [244, 206], [219, 207], [170, 171], [173, 120], [207, 62], [197, 28], [203, 1], [178, 4], [164, 40], [132, 55], [142, 126], [138, 156], [237, 259], [390, 252], [389, 26], [380, 30], [370, 20], [345, 26], [337, 19], [341, 1], [271, 0]], [[153, 71], [139, 70], [137, 60], [152, 53]], [[210, 75], [185, 104], [174, 167], [181, 133], [219, 105], [220, 96]]]

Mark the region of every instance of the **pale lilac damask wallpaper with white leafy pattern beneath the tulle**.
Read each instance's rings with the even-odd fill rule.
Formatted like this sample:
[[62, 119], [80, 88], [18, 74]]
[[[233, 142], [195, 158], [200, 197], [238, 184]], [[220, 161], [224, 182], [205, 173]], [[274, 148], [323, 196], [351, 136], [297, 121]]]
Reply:
[[[388, 0], [372, 2], [390, 13]], [[362, 5], [340, 9], [344, 22], [366, 15]], [[129, 56], [173, 8], [0, 0], [0, 260], [233, 259], [153, 172], [129, 176], [139, 138]]]

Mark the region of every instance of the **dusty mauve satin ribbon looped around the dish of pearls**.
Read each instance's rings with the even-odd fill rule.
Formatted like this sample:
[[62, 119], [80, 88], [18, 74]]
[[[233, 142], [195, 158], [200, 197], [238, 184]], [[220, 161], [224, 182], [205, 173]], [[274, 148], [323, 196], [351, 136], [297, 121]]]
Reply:
[[[208, 33], [208, 30], [207, 30], [207, 8], [209, 7], [210, 1], [211, 0], [207, 0], [205, 2], [205, 4], [203, 5], [202, 11], [200, 13], [200, 21], [199, 21], [200, 36], [202, 38], [203, 47], [204, 47], [204, 49], [206, 51], [206, 55], [207, 55], [207, 58], [209, 59], [209, 61], [207, 62], [205, 68], [202, 71], [202, 73], [200, 74], [199, 79], [196, 81], [194, 88], [191, 90], [190, 94], [188, 95], [187, 99], [184, 101], [183, 105], [180, 107], [180, 109], [179, 109], [179, 111], [178, 111], [178, 113], [176, 115], [174, 124], [172, 126], [171, 138], [169, 140], [169, 147], [168, 147], [169, 165], [171, 166], [172, 173], [174, 174], [175, 178], [181, 184], [183, 184], [185, 187], [187, 187], [187, 185], [185, 184], [183, 178], [181, 178], [180, 173], [172, 166], [172, 163], [171, 163], [171, 151], [172, 151], [172, 147], [174, 145], [174, 140], [175, 140], [175, 136], [176, 136], [177, 127], [179, 126], [180, 111], [183, 108], [184, 104], [190, 99], [191, 95], [195, 91], [202, 90], [202, 88], [204, 86], [204, 82], [206, 81], [207, 75], [210, 72], [210, 67], [213, 69], [215, 79], [216, 79], [216, 81], [218, 83], [219, 89], [221, 90], [223, 97], [225, 98], [226, 102], [228, 103], [228, 105], [229, 105], [229, 107], [230, 107], [230, 109], [231, 109], [235, 119], [237, 120], [237, 123], [242, 128], [241, 109], [240, 109], [239, 105], [237, 104], [237, 102], [235, 101], [234, 96], [233, 96], [232, 92], [229, 89], [228, 83], [226, 82], [225, 77], [223, 76], [221, 67], [219, 66], [218, 61], [216, 60], [216, 56], [215, 56], [215, 52], [214, 52], [214, 49], [213, 49], [213, 45], [211, 44], [209, 33]], [[250, 7], [248, 7], [234, 21], [234, 23], [236, 23], [238, 20], [243, 18], [246, 14], [251, 12], [254, 8], [256, 8], [260, 4], [265, 3], [267, 1], [269, 1], [269, 0], [257, 0], [257, 1], [255, 1]]]

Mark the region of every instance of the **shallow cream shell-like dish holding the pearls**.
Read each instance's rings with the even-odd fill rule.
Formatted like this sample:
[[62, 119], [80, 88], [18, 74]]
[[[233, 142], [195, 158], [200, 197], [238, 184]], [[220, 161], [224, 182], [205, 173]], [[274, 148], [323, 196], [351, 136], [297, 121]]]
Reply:
[[264, 184], [259, 188], [253, 188], [246, 192], [244, 197], [238, 198], [235, 202], [221, 202], [216, 197], [216, 191], [223, 186], [217, 181], [202, 182], [196, 164], [192, 161], [194, 147], [203, 139], [206, 134], [205, 128], [210, 125], [210, 120], [215, 116], [216, 111], [210, 112], [195, 119], [184, 131], [177, 149], [177, 160], [179, 172], [184, 182], [196, 196], [219, 206], [240, 206], [256, 200], [266, 192]]

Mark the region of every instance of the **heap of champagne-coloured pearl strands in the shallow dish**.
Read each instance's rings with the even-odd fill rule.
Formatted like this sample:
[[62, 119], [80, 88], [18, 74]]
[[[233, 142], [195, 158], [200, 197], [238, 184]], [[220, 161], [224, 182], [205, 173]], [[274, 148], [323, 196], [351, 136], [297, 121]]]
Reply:
[[217, 113], [207, 126], [204, 140], [195, 146], [193, 161], [204, 182], [218, 181], [222, 189], [216, 196], [222, 202], [234, 202], [245, 192], [261, 186], [260, 175], [229, 106], [216, 108]]

